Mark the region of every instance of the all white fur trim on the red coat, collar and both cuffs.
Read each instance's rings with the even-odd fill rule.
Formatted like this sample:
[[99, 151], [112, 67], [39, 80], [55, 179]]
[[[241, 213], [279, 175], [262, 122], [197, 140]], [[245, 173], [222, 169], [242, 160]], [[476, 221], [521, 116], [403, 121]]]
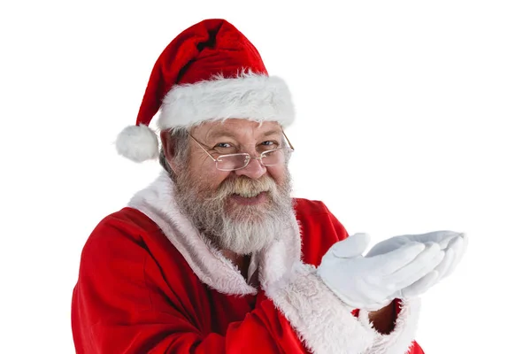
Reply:
[[[212, 289], [229, 295], [257, 294], [227, 258], [198, 233], [173, 201], [173, 181], [163, 171], [150, 187], [138, 192], [130, 207], [144, 213], [181, 252], [197, 277]], [[295, 214], [292, 222], [266, 250], [258, 253], [260, 285], [266, 296], [316, 354], [403, 354], [413, 341], [419, 317], [419, 300], [403, 300], [395, 330], [381, 335], [368, 313], [352, 316], [316, 274], [301, 263], [301, 239]]]

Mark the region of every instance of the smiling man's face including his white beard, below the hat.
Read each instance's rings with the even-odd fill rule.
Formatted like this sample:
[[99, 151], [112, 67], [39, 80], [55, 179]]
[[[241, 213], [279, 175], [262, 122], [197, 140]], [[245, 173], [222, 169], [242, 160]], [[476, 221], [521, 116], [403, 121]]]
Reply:
[[[258, 157], [282, 142], [281, 127], [243, 119], [209, 122], [190, 135], [214, 158], [246, 152]], [[223, 250], [250, 254], [281, 235], [293, 214], [284, 158], [264, 166], [256, 159], [235, 171], [219, 171], [212, 158], [190, 140], [189, 164], [175, 173], [175, 200], [203, 235]]]

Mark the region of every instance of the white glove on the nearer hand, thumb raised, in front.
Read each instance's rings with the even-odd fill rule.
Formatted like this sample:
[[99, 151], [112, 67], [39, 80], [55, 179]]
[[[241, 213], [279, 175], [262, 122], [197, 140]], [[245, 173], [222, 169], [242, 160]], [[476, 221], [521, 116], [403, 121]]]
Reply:
[[[322, 281], [352, 308], [375, 311], [432, 273], [444, 257], [438, 243], [407, 242], [374, 257], [363, 257], [366, 234], [336, 242], [317, 268]], [[429, 280], [429, 279], [428, 279]]]

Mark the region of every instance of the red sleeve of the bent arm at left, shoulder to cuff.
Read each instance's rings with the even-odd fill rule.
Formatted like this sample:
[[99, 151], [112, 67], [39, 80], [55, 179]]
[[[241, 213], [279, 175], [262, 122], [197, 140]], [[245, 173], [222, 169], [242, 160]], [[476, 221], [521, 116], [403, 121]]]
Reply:
[[[225, 335], [204, 333], [185, 296], [158, 289], [157, 263], [142, 241], [99, 227], [81, 256], [73, 290], [72, 327], [78, 353], [305, 353], [289, 321], [258, 295], [255, 309]], [[189, 287], [183, 280], [183, 287]], [[195, 291], [188, 289], [188, 294]], [[187, 308], [188, 306], [188, 308]], [[192, 314], [191, 314], [192, 313]], [[208, 318], [208, 313], [205, 314]]]

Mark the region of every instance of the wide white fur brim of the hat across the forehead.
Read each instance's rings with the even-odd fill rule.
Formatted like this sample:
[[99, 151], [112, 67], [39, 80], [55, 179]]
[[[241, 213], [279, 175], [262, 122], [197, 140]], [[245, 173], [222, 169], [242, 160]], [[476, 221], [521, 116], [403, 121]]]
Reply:
[[295, 110], [288, 85], [279, 77], [256, 73], [175, 85], [164, 98], [158, 127], [191, 127], [206, 120], [229, 118], [274, 120], [289, 126]]

